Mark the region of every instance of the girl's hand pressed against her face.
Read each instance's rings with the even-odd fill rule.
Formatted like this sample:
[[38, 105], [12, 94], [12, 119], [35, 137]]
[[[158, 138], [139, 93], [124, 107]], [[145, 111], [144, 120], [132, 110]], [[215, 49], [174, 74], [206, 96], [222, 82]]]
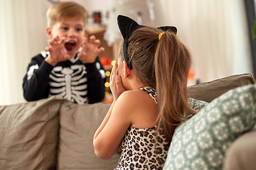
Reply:
[[117, 75], [117, 62], [114, 62], [112, 72], [110, 75], [110, 89], [112, 91], [114, 101], [117, 101], [117, 98], [124, 92], [124, 86], [122, 85], [122, 79]]

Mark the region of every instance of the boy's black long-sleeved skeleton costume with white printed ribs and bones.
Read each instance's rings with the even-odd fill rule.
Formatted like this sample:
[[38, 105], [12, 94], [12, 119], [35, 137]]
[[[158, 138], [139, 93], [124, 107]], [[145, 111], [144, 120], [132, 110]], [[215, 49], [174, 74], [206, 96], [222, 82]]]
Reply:
[[73, 103], [96, 103], [105, 96], [105, 69], [99, 57], [95, 62], [82, 64], [78, 55], [58, 62], [54, 67], [45, 61], [49, 52], [33, 57], [23, 78], [23, 96], [26, 101], [37, 101], [56, 96]]

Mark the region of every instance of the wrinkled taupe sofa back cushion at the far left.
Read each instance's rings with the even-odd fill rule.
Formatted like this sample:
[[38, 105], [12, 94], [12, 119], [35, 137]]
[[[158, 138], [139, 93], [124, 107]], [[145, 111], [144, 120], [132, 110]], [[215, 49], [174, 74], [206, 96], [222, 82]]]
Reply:
[[0, 169], [55, 169], [64, 99], [0, 106]]

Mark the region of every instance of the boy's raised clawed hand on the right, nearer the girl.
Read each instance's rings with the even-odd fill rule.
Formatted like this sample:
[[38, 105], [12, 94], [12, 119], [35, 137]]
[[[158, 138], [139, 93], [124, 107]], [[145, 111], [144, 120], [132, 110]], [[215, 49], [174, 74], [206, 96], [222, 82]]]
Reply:
[[92, 63], [100, 52], [103, 52], [104, 47], [100, 47], [100, 40], [96, 40], [95, 35], [90, 36], [90, 41], [87, 42], [86, 38], [82, 43], [82, 50], [78, 53], [79, 59], [82, 63]]

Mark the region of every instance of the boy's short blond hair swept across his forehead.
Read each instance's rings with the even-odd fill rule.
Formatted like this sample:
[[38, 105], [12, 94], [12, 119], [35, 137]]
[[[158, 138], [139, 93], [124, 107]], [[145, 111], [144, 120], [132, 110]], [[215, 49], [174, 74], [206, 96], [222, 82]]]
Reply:
[[84, 23], [87, 18], [87, 10], [74, 1], [63, 1], [53, 4], [46, 13], [48, 27], [52, 27], [55, 22], [62, 21], [63, 18], [73, 18], [81, 16]]

